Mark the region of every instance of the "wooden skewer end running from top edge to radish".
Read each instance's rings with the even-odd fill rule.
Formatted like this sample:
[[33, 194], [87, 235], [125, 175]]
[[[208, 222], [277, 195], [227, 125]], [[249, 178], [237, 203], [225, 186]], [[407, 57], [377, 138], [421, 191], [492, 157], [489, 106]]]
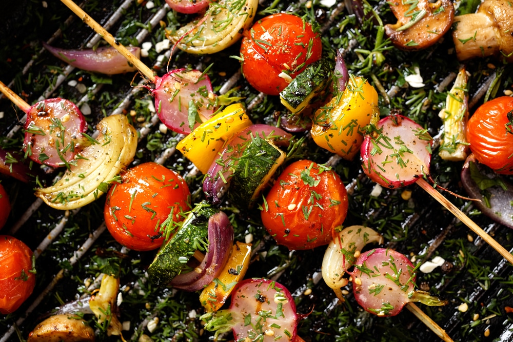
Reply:
[[61, 2], [66, 5], [70, 10], [72, 10], [76, 15], [78, 15], [80, 18], [82, 18], [82, 21], [89, 25], [94, 32], [97, 34], [100, 34], [106, 41], [109, 43], [113, 48], [115, 48], [117, 51], [119, 51], [126, 59], [128, 59], [128, 62], [133, 64], [137, 70], [139, 70], [144, 76], [146, 76], [151, 82], [155, 82], [155, 75], [153, 74], [153, 70], [148, 68], [141, 60], [137, 57], [135, 57], [130, 51], [127, 50], [123, 46], [123, 44], [120, 44], [117, 42], [117, 40], [110, 34], [106, 29], [102, 27], [102, 25], [98, 24], [96, 21], [94, 21], [93, 18], [89, 16], [82, 8], [80, 8], [78, 5], [76, 5], [72, 0], [61, 0]]

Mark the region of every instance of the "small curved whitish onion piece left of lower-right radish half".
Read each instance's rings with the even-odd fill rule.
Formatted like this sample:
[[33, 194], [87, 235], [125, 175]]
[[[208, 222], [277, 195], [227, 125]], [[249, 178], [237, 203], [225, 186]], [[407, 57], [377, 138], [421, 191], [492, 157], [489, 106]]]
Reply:
[[350, 226], [334, 234], [326, 248], [322, 260], [322, 277], [341, 301], [344, 300], [341, 288], [349, 283], [349, 279], [344, 278], [345, 271], [360, 256], [362, 248], [370, 243], [383, 244], [383, 236], [369, 227]]

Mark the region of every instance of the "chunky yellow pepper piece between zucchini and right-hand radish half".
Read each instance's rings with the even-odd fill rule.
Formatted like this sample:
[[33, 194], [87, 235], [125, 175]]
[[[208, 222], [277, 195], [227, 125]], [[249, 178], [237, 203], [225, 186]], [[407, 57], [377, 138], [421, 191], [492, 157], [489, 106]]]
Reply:
[[317, 145], [351, 160], [363, 143], [365, 126], [378, 119], [376, 89], [351, 75], [347, 88], [315, 112], [310, 132]]

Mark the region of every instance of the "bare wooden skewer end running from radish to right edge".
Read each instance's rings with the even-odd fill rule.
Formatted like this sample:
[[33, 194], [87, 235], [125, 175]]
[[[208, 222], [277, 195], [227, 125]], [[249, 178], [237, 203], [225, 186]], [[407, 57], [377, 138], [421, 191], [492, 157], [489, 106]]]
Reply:
[[422, 189], [426, 190], [428, 194], [433, 196], [441, 205], [449, 210], [453, 215], [461, 220], [470, 230], [478, 234], [488, 245], [495, 248], [509, 263], [513, 264], [513, 255], [509, 253], [504, 247], [501, 246], [493, 237], [488, 235], [481, 227], [473, 222], [465, 213], [458, 209], [455, 205], [449, 202], [447, 198], [442, 196], [437, 190], [435, 190], [424, 178], [419, 178], [416, 182]]

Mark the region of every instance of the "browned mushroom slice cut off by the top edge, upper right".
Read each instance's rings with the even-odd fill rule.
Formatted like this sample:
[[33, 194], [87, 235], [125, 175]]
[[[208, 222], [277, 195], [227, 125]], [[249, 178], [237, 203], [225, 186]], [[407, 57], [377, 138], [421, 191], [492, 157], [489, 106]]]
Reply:
[[403, 50], [427, 48], [440, 39], [452, 25], [454, 6], [450, 0], [389, 2], [397, 24], [385, 25], [385, 32], [393, 45]]

